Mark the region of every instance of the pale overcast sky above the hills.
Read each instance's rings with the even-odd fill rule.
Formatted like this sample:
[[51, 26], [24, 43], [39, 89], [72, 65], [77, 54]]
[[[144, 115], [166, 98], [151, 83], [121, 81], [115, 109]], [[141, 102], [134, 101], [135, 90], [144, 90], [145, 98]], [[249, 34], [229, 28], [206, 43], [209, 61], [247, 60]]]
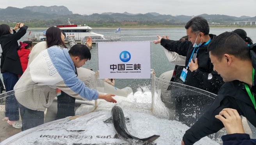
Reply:
[[256, 16], [256, 0], [1, 0], [0, 8], [64, 5], [73, 14], [158, 12], [171, 15], [224, 14]]

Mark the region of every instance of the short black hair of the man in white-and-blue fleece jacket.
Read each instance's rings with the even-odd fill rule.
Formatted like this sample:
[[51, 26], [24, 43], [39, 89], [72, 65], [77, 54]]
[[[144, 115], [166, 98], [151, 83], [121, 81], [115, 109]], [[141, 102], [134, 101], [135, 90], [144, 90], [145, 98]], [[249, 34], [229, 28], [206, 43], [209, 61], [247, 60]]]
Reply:
[[79, 57], [81, 60], [82, 59], [91, 59], [91, 52], [87, 48], [86, 45], [83, 44], [75, 44], [70, 48], [68, 51], [69, 55], [72, 55], [73, 57]]

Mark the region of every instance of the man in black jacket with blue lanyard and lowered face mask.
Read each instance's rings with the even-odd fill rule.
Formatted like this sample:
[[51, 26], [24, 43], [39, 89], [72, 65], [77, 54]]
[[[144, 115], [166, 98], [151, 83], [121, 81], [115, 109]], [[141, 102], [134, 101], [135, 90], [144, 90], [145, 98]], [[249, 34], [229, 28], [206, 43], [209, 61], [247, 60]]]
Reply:
[[[176, 74], [175, 82], [183, 80], [185, 85], [217, 94], [220, 86], [223, 84], [222, 78], [213, 71], [209, 53], [206, 48], [208, 43], [215, 37], [209, 34], [210, 28], [206, 19], [202, 17], [194, 17], [185, 25], [187, 29], [188, 41], [174, 41], [162, 39], [158, 36], [158, 40], [153, 41], [155, 44], [161, 43], [165, 49], [174, 51], [179, 55], [185, 56], [185, 66], [183, 73]], [[195, 54], [194, 62], [192, 56]], [[182, 77], [183, 76], [183, 77]]]

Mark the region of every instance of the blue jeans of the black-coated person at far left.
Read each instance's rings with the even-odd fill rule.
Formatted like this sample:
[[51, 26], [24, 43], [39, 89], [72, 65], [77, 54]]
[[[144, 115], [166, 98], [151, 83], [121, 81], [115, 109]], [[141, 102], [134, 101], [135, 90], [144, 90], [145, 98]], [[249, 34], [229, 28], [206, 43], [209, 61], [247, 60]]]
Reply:
[[11, 91], [18, 81], [18, 75], [4, 72], [3, 80], [7, 92], [7, 97], [5, 98], [5, 117], [9, 117], [10, 121], [19, 120], [19, 104], [14, 96], [14, 91]]

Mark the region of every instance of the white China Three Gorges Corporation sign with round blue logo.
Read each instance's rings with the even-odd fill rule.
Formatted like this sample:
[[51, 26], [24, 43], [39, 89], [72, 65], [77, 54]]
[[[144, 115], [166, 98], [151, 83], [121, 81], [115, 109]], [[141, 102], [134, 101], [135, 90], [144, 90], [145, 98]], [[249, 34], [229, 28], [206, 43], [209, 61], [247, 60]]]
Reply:
[[100, 79], [150, 78], [150, 42], [98, 42]]

